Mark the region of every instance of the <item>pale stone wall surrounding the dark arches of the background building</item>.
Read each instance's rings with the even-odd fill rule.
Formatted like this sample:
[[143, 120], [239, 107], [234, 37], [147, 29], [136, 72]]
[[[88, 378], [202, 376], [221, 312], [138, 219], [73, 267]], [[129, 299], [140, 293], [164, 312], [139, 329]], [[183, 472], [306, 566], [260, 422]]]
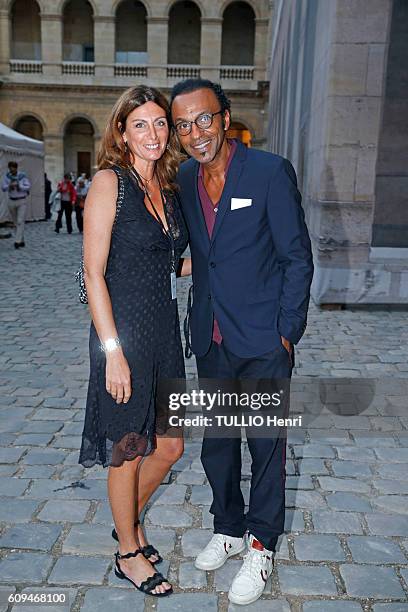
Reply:
[[[83, 0], [74, 0], [74, 5], [82, 6], [82, 2]], [[109, 113], [124, 88], [144, 83], [158, 87], [168, 95], [174, 83], [183, 78], [181, 74], [169, 77], [167, 70], [169, 11], [173, 4], [168, 0], [150, 0], [144, 5], [147, 13], [147, 65], [144, 73], [115, 72], [116, 51], [122, 50], [121, 45], [115, 42], [118, 32], [123, 32], [117, 22], [121, 9], [117, 13], [118, 3], [114, 0], [98, 0], [92, 3], [92, 31], [89, 29], [90, 21], [85, 19], [83, 10], [75, 16], [75, 19], [79, 20], [78, 27], [83, 28], [76, 32], [80, 37], [79, 42], [94, 42], [95, 63], [91, 67], [85, 67], [89, 69], [88, 73], [71, 75], [63, 70], [66, 68], [63, 66], [62, 54], [64, 4], [60, 3], [56, 7], [54, 0], [38, 0], [41, 11], [42, 63], [40, 66], [31, 66], [35, 63], [30, 64], [28, 61], [27, 66], [23, 65], [22, 71], [16, 72], [11, 70], [10, 62], [10, 2], [0, 0], [0, 121], [11, 127], [28, 115], [39, 121], [45, 144], [45, 167], [53, 181], [59, 179], [64, 169], [74, 163], [75, 150], [69, 146], [65, 146], [64, 161], [65, 128], [72, 119], [82, 118], [92, 125], [94, 163]], [[236, 78], [226, 76], [221, 83], [232, 99], [234, 120], [251, 131], [253, 146], [263, 147], [267, 104], [267, 89], [263, 84], [266, 81], [270, 6], [268, 0], [249, 0], [248, 5], [252, 7], [255, 15], [252, 76], [248, 78], [244, 75], [245, 78], [241, 79], [240, 75]], [[215, 81], [221, 79], [222, 16], [225, 6], [224, 0], [200, 2], [199, 57], [193, 57], [187, 49], [179, 58], [182, 64], [197, 60], [197, 63], [201, 64], [201, 76]], [[122, 7], [126, 9], [126, 5]], [[71, 10], [69, 6], [68, 10]], [[71, 42], [75, 42], [74, 31], [71, 34], [68, 32], [67, 36]], [[178, 32], [178, 38], [183, 34], [184, 32]], [[126, 34], [128, 35], [129, 33]], [[124, 51], [131, 50], [130, 42], [128, 38]], [[197, 38], [194, 44], [197, 47]], [[128, 67], [129, 70], [138, 69], [138, 66], [132, 65], [131, 62]], [[77, 68], [80, 71], [81, 65]], [[89, 142], [87, 147], [89, 148]]]

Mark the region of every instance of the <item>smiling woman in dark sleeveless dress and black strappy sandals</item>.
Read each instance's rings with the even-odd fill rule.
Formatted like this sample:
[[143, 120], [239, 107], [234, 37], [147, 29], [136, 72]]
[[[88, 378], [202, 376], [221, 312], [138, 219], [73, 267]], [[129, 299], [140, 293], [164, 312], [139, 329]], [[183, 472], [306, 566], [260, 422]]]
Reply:
[[84, 213], [93, 322], [79, 462], [109, 466], [116, 575], [159, 597], [172, 587], [155, 571], [161, 559], [146, 546], [138, 518], [183, 453], [182, 437], [157, 435], [166, 426], [158, 430], [155, 396], [160, 379], [185, 377], [174, 270], [182, 265], [181, 274], [190, 273], [190, 261], [180, 260], [187, 232], [175, 197], [179, 150], [169, 125], [167, 100], [157, 90], [139, 86], [122, 94]]

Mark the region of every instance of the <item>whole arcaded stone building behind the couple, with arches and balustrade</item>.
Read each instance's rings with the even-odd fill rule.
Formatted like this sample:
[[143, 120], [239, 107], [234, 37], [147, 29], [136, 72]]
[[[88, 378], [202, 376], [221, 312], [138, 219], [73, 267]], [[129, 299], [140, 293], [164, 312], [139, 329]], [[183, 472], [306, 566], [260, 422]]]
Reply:
[[0, 0], [0, 121], [44, 140], [45, 166], [95, 169], [124, 88], [220, 82], [232, 134], [264, 146], [268, 0]]

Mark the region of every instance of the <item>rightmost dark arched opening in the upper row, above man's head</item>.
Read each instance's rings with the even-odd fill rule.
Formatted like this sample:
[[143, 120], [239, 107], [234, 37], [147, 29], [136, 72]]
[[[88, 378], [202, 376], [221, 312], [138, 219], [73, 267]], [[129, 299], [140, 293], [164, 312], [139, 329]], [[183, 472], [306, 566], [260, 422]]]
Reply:
[[253, 66], [255, 13], [247, 2], [229, 4], [223, 14], [221, 64]]

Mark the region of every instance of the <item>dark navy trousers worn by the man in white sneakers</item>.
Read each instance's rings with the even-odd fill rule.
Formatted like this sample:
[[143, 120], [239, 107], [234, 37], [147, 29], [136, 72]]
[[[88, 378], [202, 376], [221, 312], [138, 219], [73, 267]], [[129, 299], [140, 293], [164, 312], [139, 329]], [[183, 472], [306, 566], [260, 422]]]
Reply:
[[[259, 357], [241, 358], [228, 351], [224, 342], [212, 342], [209, 352], [197, 357], [200, 379], [285, 379], [288, 389], [292, 364], [283, 346]], [[246, 433], [252, 476], [245, 515], [241, 438], [220, 439], [210, 435], [209, 429], [204, 432], [201, 461], [213, 492], [214, 533], [242, 537], [248, 530], [265, 548], [275, 550], [285, 523], [286, 430], [270, 437], [258, 437], [249, 428]]]

